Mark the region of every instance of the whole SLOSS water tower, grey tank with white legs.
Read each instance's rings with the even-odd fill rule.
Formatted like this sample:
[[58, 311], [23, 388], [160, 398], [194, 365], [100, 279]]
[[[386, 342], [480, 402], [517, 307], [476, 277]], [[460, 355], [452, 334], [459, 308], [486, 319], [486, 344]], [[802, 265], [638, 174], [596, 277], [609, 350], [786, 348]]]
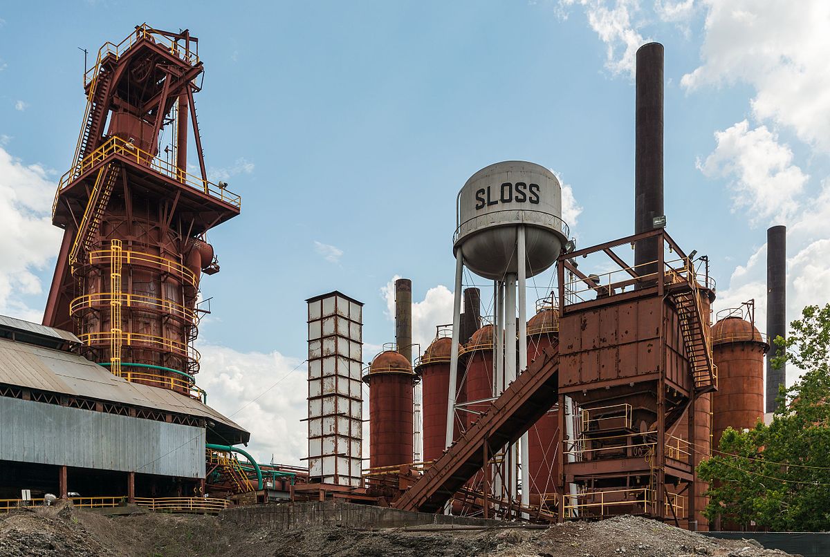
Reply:
[[[464, 267], [493, 281], [494, 319], [493, 396], [527, 367], [526, 279], [549, 269], [568, 241], [562, 220], [562, 188], [547, 168], [533, 162], [506, 161], [482, 168], [458, 192], [456, 232], [455, 303], [452, 313], [452, 354], [447, 404], [447, 447], [452, 443], [457, 409], [458, 341], [461, 328], [461, 279]], [[517, 288], [518, 287], [518, 288]], [[518, 295], [518, 300], [517, 300]], [[516, 331], [516, 306], [518, 327]], [[519, 343], [516, 344], [518, 333]], [[505, 342], [505, 339], [508, 341]], [[518, 348], [518, 354], [517, 354]], [[521, 459], [527, 463], [527, 435], [520, 441]], [[510, 459], [507, 459], [510, 460]], [[515, 478], [515, 458], [510, 466]], [[522, 467], [522, 502], [529, 502], [528, 467]], [[512, 482], [511, 482], [512, 483]], [[515, 496], [515, 486], [508, 488]]]

